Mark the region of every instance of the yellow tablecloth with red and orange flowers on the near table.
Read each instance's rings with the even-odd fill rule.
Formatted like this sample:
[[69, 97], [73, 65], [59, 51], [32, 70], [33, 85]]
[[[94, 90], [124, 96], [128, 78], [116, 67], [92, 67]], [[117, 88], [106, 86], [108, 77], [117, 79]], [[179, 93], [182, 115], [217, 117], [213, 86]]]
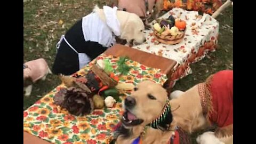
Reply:
[[[108, 59], [115, 69], [119, 58], [102, 54], [97, 59]], [[95, 60], [91, 63], [93, 62]], [[122, 76], [120, 82], [137, 85], [150, 79], [163, 85], [167, 80], [160, 69], [149, 68], [132, 60], [126, 63], [131, 66], [130, 73]], [[76, 74], [85, 75], [91, 67], [90, 64]], [[116, 71], [115, 74], [118, 75]], [[122, 99], [130, 92], [121, 92], [124, 96], [121, 96], [121, 100], [113, 108], [96, 109], [90, 115], [74, 116], [53, 104], [54, 94], [63, 87], [59, 85], [23, 112], [23, 130], [52, 143], [109, 143], [113, 137], [113, 127], [119, 122], [123, 112]]]

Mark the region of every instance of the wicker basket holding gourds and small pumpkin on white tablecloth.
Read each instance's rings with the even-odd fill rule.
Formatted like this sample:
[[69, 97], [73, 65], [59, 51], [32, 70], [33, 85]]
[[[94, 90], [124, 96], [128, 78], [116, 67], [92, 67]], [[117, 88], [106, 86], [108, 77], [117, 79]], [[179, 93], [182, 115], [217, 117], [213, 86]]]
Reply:
[[160, 43], [164, 43], [164, 44], [178, 44], [183, 40], [183, 37], [185, 36], [185, 30], [184, 31], [180, 31], [181, 33], [176, 35], [176, 36], [172, 36], [172, 35], [166, 35], [163, 36], [161, 34], [159, 34], [156, 30], [154, 30], [154, 37], [156, 38], [156, 40]]

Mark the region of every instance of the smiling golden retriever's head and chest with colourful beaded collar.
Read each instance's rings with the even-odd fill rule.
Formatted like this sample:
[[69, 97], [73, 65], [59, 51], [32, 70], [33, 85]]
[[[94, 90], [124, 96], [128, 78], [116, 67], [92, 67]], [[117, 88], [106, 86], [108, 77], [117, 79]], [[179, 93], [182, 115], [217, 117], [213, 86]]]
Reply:
[[121, 125], [115, 131], [116, 144], [163, 143], [174, 133], [166, 90], [153, 81], [140, 82], [123, 103]]

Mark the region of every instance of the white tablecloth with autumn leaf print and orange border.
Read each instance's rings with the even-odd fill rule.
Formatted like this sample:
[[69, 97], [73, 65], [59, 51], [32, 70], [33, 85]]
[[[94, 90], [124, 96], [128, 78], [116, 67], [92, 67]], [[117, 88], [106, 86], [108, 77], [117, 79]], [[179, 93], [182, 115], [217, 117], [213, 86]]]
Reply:
[[[198, 15], [197, 11], [180, 8], [170, 10], [161, 18], [167, 19], [169, 15], [187, 23], [185, 37], [181, 43], [175, 45], [159, 43], [154, 38], [153, 30], [150, 29], [145, 31], [147, 42], [133, 48], [177, 61], [170, 78], [174, 85], [175, 81], [191, 73], [190, 63], [203, 59], [207, 52], [215, 50], [218, 43], [219, 22], [209, 14], [202, 16]], [[155, 21], [151, 22], [151, 25], [153, 23]]]

